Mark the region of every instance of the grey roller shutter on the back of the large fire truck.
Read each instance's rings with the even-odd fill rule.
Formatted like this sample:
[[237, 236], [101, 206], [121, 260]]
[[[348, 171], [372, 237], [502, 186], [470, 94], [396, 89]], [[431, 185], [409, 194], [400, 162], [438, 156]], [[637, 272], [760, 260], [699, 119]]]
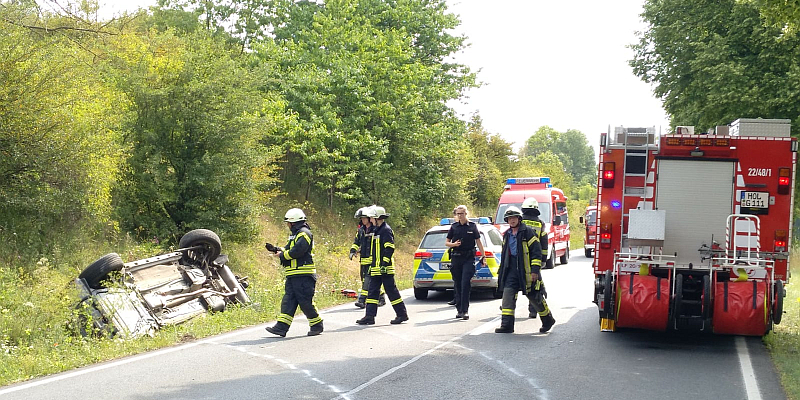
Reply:
[[725, 241], [733, 209], [733, 161], [658, 160], [656, 208], [666, 211], [663, 254], [677, 265], [702, 264], [698, 249]]

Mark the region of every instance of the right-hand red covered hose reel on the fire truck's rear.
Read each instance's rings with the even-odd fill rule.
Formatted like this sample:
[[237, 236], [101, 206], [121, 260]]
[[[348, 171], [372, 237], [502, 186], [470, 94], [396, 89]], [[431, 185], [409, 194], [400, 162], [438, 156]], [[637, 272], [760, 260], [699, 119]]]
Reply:
[[714, 289], [714, 333], [762, 336], [767, 332], [769, 310], [765, 281], [717, 282]]

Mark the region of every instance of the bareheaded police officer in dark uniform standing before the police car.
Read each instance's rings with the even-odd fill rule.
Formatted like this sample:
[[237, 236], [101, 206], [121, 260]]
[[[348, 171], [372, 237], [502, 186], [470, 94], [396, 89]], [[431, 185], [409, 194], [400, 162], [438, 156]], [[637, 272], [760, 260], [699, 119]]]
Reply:
[[481, 265], [486, 265], [486, 252], [481, 242], [478, 225], [467, 219], [467, 206], [460, 205], [455, 209], [456, 222], [447, 231], [445, 246], [450, 252], [450, 275], [453, 277], [453, 298], [455, 299], [456, 318], [469, 319], [469, 294], [472, 288], [472, 276], [475, 275], [475, 245], [481, 254]]

